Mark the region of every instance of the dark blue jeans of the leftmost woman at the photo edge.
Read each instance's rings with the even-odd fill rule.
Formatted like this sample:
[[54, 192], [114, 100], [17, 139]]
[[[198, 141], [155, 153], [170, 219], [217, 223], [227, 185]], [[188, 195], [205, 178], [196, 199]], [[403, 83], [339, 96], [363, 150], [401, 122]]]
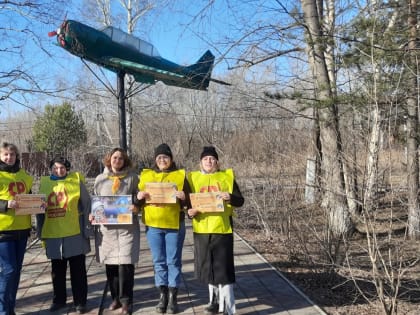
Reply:
[[27, 241], [0, 242], [0, 315], [14, 313]]

